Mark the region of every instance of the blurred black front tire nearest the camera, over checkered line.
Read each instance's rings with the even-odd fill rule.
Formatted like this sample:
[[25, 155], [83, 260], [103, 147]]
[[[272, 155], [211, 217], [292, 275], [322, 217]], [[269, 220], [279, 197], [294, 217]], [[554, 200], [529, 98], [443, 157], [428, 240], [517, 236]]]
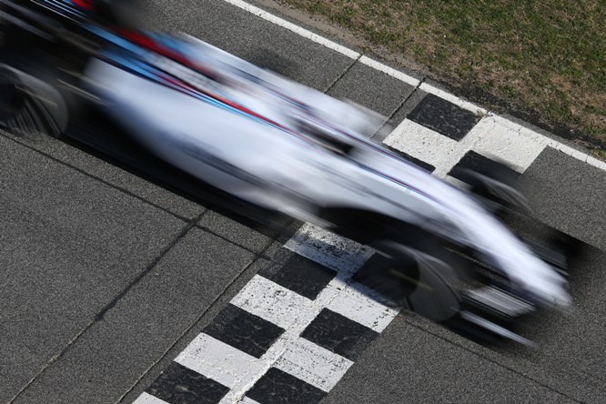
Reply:
[[444, 322], [459, 314], [461, 296], [456, 285], [466, 272], [458, 257], [439, 245], [431, 252], [390, 240], [372, 247], [380, 258], [376, 267], [357, 279], [360, 283], [433, 321]]

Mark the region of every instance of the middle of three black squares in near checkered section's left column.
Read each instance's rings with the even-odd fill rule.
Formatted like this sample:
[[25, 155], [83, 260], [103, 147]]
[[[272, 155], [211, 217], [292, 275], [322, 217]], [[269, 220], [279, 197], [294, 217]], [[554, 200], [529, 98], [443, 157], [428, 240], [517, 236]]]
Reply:
[[228, 304], [217, 318], [204, 328], [204, 332], [248, 355], [261, 358], [282, 335], [284, 328]]

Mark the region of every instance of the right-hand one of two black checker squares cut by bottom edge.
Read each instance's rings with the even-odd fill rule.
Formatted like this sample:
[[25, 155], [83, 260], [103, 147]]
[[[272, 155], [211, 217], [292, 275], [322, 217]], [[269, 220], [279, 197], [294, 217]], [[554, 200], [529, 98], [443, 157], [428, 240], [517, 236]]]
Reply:
[[316, 404], [326, 394], [287, 372], [271, 368], [247, 391], [247, 398], [263, 404]]

